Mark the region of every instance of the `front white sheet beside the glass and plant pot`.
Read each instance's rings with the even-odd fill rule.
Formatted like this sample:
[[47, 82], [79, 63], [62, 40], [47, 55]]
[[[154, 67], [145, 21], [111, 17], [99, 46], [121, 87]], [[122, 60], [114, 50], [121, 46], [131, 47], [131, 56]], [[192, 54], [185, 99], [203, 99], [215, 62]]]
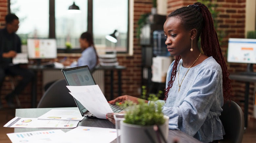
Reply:
[[117, 138], [117, 130], [78, 126], [66, 132], [66, 136], [72, 136], [74, 143], [110, 143]]

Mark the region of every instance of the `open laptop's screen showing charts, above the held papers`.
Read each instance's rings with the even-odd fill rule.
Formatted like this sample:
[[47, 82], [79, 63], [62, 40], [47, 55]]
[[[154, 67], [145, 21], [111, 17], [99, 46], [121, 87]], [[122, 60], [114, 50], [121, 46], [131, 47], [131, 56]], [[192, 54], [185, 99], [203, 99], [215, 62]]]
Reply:
[[91, 76], [91, 73], [88, 69], [85, 70], [74, 70], [74, 71], [66, 71], [66, 78], [68, 80], [69, 85], [72, 86], [88, 86], [95, 85], [94, 80]]

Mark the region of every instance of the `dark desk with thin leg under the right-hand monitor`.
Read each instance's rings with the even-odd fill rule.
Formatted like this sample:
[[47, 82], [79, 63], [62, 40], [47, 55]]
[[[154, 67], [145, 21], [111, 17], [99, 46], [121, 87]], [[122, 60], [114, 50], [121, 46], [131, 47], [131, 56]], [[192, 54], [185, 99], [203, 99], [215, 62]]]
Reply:
[[249, 104], [249, 86], [250, 82], [256, 82], [255, 75], [242, 75], [239, 73], [233, 73], [229, 75], [230, 79], [243, 81], [245, 82], [245, 110], [244, 110], [244, 117], [245, 117], [245, 127], [247, 127], [247, 120], [248, 120], [248, 104]]

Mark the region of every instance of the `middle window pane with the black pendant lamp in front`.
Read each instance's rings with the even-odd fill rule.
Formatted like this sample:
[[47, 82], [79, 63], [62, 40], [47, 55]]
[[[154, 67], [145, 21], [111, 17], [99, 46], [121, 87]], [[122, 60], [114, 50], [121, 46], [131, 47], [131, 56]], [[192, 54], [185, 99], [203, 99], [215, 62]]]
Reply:
[[69, 13], [68, 8], [73, 0], [55, 0], [55, 36], [57, 47], [65, 48], [65, 43], [70, 42], [72, 48], [79, 47], [79, 38], [87, 31], [87, 0], [76, 0], [80, 13]]

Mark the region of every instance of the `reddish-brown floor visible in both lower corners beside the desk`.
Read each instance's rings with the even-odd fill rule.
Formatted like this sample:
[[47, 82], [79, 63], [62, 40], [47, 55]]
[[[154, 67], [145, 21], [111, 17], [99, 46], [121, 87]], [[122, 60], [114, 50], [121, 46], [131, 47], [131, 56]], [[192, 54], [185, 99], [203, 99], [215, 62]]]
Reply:
[[[8, 121], [15, 116], [15, 109], [1, 109], [0, 110], [0, 142], [11, 143], [11, 140], [6, 135], [13, 133], [13, 128], [3, 127]], [[256, 123], [248, 122], [248, 127], [245, 130], [244, 138], [242, 143], [256, 143]]]

